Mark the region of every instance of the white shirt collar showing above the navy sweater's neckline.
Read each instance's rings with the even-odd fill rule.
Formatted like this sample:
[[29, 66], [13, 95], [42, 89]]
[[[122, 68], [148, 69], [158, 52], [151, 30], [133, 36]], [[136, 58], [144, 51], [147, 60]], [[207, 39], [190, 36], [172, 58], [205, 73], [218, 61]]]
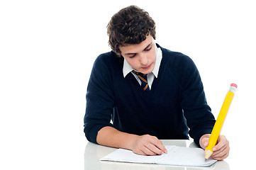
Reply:
[[[157, 57], [156, 57], [156, 60], [155, 60], [155, 68], [153, 69], [152, 73], [157, 78], [159, 68], [160, 68], [160, 64], [161, 64], [161, 60], [162, 60], [162, 50], [160, 49], [160, 47], [158, 47], [158, 48], [157, 48], [157, 46], [155, 46], [155, 47], [156, 47]], [[135, 70], [135, 69], [133, 69], [133, 67], [131, 67], [130, 64], [128, 64], [128, 62], [124, 58], [124, 60], [123, 60], [123, 77], [126, 77], [127, 74], [129, 74], [133, 70]]]

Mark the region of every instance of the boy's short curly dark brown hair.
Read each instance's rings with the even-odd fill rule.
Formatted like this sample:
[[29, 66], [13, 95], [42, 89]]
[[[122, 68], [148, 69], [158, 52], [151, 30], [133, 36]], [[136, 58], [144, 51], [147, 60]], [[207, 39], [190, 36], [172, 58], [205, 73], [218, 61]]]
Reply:
[[150, 34], [155, 39], [155, 21], [138, 6], [128, 6], [114, 14], [107, 26], [108, 44], [121, 56], [120, 46], [139, 44]]

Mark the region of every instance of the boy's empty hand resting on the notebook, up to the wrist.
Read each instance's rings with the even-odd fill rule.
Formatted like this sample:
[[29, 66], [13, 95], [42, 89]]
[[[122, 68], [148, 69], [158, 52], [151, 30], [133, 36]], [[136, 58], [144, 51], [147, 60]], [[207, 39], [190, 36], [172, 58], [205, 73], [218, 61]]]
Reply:
[[167, 153], [162, 142], [155, 136], [142, 135], [135, 136], [133, 140], [132, 150], [135, 154], [157, 155]]

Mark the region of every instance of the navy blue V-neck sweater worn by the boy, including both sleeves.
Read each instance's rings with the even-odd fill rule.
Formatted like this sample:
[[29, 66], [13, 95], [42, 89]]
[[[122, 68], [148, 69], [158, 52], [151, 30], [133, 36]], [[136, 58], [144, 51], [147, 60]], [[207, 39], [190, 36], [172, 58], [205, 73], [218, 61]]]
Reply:
[[211, 133], [215, 119], [194, 62], [182, 53], [161, 50], [160, 70], [149, 93], [133, 74], [123, 77], [123, 57], [114, 52], [97, 57], [87, 87], [87, 140], [96, 143], [105, 126], [162, 140], [189, 139], [189, 134], [196, 145]]

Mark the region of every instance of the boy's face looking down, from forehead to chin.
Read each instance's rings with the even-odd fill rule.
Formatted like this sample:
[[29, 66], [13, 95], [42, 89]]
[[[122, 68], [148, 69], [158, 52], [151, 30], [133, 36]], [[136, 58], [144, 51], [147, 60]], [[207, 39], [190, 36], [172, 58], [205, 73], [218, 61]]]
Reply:
[[121, 55], [126, 59], [133, 69], [143, 74], [149, 74], [155, 68], [157, 57], [154, 38], [151, 35], [139, 44], [128, 44], [119, 47]]

